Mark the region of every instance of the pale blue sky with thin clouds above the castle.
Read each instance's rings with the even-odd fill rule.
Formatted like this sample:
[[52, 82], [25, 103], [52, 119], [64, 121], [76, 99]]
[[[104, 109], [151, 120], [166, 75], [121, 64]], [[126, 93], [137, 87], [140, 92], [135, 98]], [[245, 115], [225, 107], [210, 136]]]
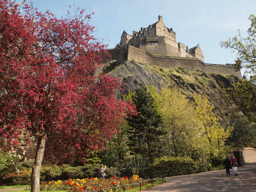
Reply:
[[250, 27], [248, 17], [256, 12], [255, 0], [33, 0], [42, 12], [50, 10], [65, 16], [67, 5], [75, 4], [95, 12], [90, 24], [95, 36], [104, 38], [109, 48], [120, 42], [125, 30], [139, 31], [163, 17], [167, 28], [173, 28], [177, 42], [189, 48], [200, 44], [205, 63], [234, 63], [236, 54], [220, 47], [220, 41], [237, 35], [237, 29], [246, 36]]

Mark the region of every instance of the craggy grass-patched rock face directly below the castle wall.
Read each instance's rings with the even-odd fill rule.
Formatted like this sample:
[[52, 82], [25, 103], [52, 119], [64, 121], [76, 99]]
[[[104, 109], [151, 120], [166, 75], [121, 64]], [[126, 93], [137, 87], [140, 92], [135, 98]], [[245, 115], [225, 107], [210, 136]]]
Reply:
[[[112, 65], [112, 68], [111, 68]], [[140, 84], [152, 84], [158, 91], [161, 87], [178, 88], [190, 100], [194, 93], [202, 93], [209, 97], [214, 105], [214, 113], [218, 116], [221, 125], [229, 123], [232, 105], [223, 98], [223, 88], [233, 87], [239, 79], [232, 75], [206, 74], [201, 70], [187, 71], [184, 68], [160, 68], [144, 63], [125, 61], [124, 63], [111, 63], [109, 74], [122, 81], [124, 92], [118, 92], [119, 98], [124, 93], [133, 92]], [[114, 68], [115, 67], [115, 68]]]

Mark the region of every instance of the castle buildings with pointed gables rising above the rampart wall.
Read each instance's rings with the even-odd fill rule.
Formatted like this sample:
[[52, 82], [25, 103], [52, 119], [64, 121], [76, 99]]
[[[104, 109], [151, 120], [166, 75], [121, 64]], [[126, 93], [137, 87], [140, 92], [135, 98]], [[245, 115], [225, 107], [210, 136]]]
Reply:
[[177, 56], [182, 58], [197, 58], [204, 62], [204, 54], [199, 44], [188, 49], [188, 46], [176, 42], [176, 33], [172, 28], [166, 28], [163, 18], [159, 15], [158, 21], [148, 28], [141, 28], [139, 32], [133, 31], [129, 35], [125, 31], [121, 36], [120, 43], [115, 48], [132, 45], [150, 54]]

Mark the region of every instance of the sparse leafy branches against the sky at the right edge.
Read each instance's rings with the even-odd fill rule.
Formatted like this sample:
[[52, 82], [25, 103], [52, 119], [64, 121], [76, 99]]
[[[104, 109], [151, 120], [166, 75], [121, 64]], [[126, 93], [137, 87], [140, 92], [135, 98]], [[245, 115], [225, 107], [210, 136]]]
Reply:
[[237, 67], [246, 67], [253, 74], [256, 72], [256, 17], [250, 15], [251, 26], [247, 30], [248, 36], [243, 38], [238, 29], [238, 36], [220, 42], [221, 47], [237, 52]]

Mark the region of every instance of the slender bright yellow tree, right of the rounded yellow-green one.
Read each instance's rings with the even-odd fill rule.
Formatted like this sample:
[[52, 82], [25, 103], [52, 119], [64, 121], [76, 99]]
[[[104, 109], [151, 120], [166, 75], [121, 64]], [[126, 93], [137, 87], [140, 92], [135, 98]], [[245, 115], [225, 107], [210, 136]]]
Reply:
[[206, 95], [195, 93], [194, 99], [196, 116], [200, 122], [201, 130], [204, 132], [205, 147], [209, 148], [211, 156], [222, 156], [225, 152], [225, 140], [230, 135], [232, 128], [223, 129], [221, 127], [218, 118], [212, 112], [214, 106], [209, 102]]

